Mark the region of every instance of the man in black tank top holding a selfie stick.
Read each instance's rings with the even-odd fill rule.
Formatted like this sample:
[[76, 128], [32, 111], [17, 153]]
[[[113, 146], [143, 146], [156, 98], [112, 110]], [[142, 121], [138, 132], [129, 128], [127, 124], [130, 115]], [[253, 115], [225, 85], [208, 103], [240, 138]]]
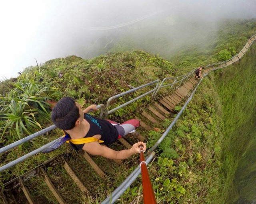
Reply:
[[[102, 120], [88, 114], [90, 110], [96, 111], [96, 105], [88, 106], [85, 110], [71, 97], [59, 100], [52, 110], [52, 122], [66, 133], [70, 145], [75, 149], [83, 149], [92, 155], [101, 155], [109, 159], [126, 159], [134, 153], [139, 153], [139, 146], [146, 143], [135, 143], [131, 149], [115, 151], [106, 146], [114, 143], [120, 137], [134, 131], [139, 125], [138, 120], [128, 120], [118, 124], [111, 120]], [[86, 141], [79, 143], [77, 141]]]

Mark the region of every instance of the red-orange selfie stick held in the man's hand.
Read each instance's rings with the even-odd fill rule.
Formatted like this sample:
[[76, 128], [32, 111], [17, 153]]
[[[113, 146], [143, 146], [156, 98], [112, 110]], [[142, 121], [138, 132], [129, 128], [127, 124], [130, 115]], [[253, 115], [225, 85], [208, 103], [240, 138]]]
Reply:
[[144, 204], [156, 204], [155, 194], [148, 175], [147, 164], [144, 158], [143, 146], [140, 145], [140, 169], [142, 176], [143, 200]]

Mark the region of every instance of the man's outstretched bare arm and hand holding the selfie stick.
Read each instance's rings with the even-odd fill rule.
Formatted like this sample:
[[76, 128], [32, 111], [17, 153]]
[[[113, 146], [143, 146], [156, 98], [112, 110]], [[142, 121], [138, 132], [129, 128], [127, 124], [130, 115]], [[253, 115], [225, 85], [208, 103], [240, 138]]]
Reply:
[[135, 153], [139, 153], [139, 146], [143, 145], [143, 150], [146, 151], [146, 144], [143, 142], [135, 143], [131, 149], [115, 151], [108, 147], [100, 145], [98, 142], [91, 142], [84, 145], [83, 150], [91, 155], [100, 155], [108, 159], [126, 159]]

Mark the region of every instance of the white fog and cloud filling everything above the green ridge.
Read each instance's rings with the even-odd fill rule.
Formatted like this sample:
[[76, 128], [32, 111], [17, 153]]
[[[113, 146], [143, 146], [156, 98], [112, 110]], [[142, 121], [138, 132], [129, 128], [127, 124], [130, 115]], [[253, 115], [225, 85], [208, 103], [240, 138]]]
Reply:
[[255, 0], [5, 1], [0, 80], [17, 77], [36, 60], [69, 55], [143, 49], [166, 57], [187, 43], [212, 40], [222, 20], [256, 18], [255, 11]]

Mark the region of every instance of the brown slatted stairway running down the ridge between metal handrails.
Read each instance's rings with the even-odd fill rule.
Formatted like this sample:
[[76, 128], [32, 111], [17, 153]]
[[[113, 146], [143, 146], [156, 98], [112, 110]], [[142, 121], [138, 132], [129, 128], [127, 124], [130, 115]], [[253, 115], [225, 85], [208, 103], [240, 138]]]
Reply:
[[[237, 62], [244, 55], [244, 53], [246, 53], [247, 49], [250, 47], [250, 45], [252, 44], [252, 42], [255, 39], [256, 39], [255, 36], [250, 38], [248, 43], [246, 43], [245, 47], [242, 49], [242, 51], [237, 56], [234, 56], [232, 59], [230, 59], [228, 61], [225, 61], [225, 62], [222, 62], [222, 63], [216, 63], [216, 64], [213, 64], [213, 65], [207, 66], [207, 69], [204, 71], [204, 74], [207, 74], [207, 73], [209, 73], [212, 70], [220, 69], [220, 68], [226, 67], [228, 65], [231, 65], [231, 64]], [[195, 86], [195, 84], [197, 84], [197, 82], [198, 81], [194, 80], [194, 78], [188, 78], [182, 85], [180, 85], [180, 87], [176, 86], [176, 90], [174, 90], [174, 91], [171, 90], [170, 92], [166, 93], [164, 96], [161, 96], [159, 98], [158, 102], [153, 102], [152, 106], [148, 106], [148, 108], [147, 108], [148, 110], [142, 111], [140, 116], [141, 117], [143, 116], [143, 117], [139, 118], [141, 120], [142, 128], [144, 128], [146, 131], [148, 131], [148, 130], [152, 129], [152, 127], [154, 127], [156, 125], [159, 125], [162, 122], [162, 120], [164, 120], [165, 118], [171, 116], [172, 111], [174, 110], [175, 106], [179, 105], [180, 102], [184, 101], [187, 98], [187, 96], [190, 94], [190, 92], [194, 89], [194, 86]], [[140, 112], [138, 112], [138, 113], [140, 114]], [[140, 129], [139, 129], [139, 131], [140, 131]], [[139, 137], [139, 139], [143, 141], [144, 137], [141, 136], [141, 137]], [[131, 141], [134, 141], [134, 140], [131, 140]], [[125, 139], [122, 139], [121, 142], [124, 144], [124, 146], [126, 148], [130, 147], [129, 141], [126, 141]], [[74, 180], [74, 183], [76, 183], [76, 185], [80, 189], [81, 194], [80, 193], [78, 193], [78, 194], [80, 194], [80, 196], [82, 196], [82, 195], [84, 195], [84, 193], [87, 194], [88, 191], [90, 192], [90, 190], [88, 190], [90, 188], [88, 188], [88, 187], [86, 188], [86, 184], [89, 185], [89, 183], [87, 182], [86, 184], [84, 184], [85, 182], [81, 181], [82, 179], [79, 179], [79, 178], [82, 178], [82, 175], [78, 176], [78, 175], [76, 175], [78, 173], [76, 171], [72, 170], [72, 169], [76, 168], [74, 166], [74, 164], [73, 165], [68, 165], [68, 163], [72, 163], [72, 161], [71, 161], [72, 159], [70, 159], [70, 158], [72, 158], [73, 161], [74, 160], [76, 160], [76, 161], [79, 160], [79, 163], [83, 163], [84, 162], [84, 161], [80, 160], [80, 159], [82, 159], [80, 157], [80, 155], [75, 155], [75, 156], [64, 155], [64, 157], [60, 156], [60, 157], [56, 158], [56, 160], [63, 160], [64, 165], [61, 166], [61, 167], [58, 167], [56, 169], [59, 170], [58, 174], [61, 174], [62, 171], [67, 171], [68, 172], [68, 174]], [[96, 174], [99, 177], [102, 177], [102, 178], [106, 177], [107, 173], [104, 173], [101, 170], [100, 161], [97, 161], [97, 159], [94, 158], [94, 160], [96, 160], [96, 162], [94, 162], [93, 159], [90, 158], [90, 156], [88, 154], [86, 154], [86, 153], [84, 154], [84, 158], [86, 159], [86, 161], [89, 164], [92, 165], [92, 169], [94, 169], [96, 171]], [[122, 169], [126, 169], [130, 165], [130, 164], [127, 164], [127, 163], [123, 164], [120, 161], [115, 161], [115, 162], [118, 163], [117, 165], [121, 164], [122, 165], [122, 167], [121, 167]], [[133, 162], [136, 163], [136, 161], [134, 161], [134, 160], [133, 160]], [[50, 179], [50, 176], [47, 175], [48, 174], [47, 170], [52, 167], [52, 164], [50, 164], [50, 163], [54, 163], [54, 160], [49, 161], [46, 164], [43, 164], [38, 169], [34, 169], [33, 170], [33, 174], [38, 174], [39, 177], [41, 177], [41, 180], [42, 180], [42, 177], [44, 177], [44, 181], [46, 182], [46, 184], [48, 185], [48, 187], [50, 189], [46, 193], [52, 192], [52, 194], [54, 195], [55, 199], [58, 200], [59, 203], [71, 202], [71, 200], [68, 199], [67, 195], [65, 196], [65, 198], [62, 198], [63, 193], [61, 195], [58, 192], [59, 190], [61, 190], [60, 189], [61, 187], [60, 186], [58, 186], [58, 188], [56, 188], [56, 186], [54, 187], [54, 182], [52, 182], [51, 179]], [[113, 165], [113, 163], [110, 163], [110, 166], [111, 165]], [[120, 167], [118, 166], [118, 168], [120, 168]], [[112, 172], [110, 171], [109, 173], [111, 174]], [[54, 174], [56, 174], [56, 172]], [[21, 186], [22, 187], [22, 191], [24, 192], [24, 195], [26, 196], [28, 202], [29, 203], [34, 203], [34, 201], [32, 200], [32, 198], [30, 196], [29, 190], [25, 186], [26, 185], [26, 181], [29, 180], [30, 177], [31, 177], [31, 174], [26, 174], [26, 175], [23, 175], [20, 178], [17, 178], [15, 180], [13, 180], [12, 182], [9, 182], [8, 184], [6, 184], [5, 185], [5, 187], [6, 187], [5, 191], [1, 192], [3, 202], [4, 203], [8, 203], [8, 202], [12, 203], [11, 200], [13, 200], [13, 198], [14, 198], [12, 192], [10, 192], [10, 194], [8, 193], [8, 196], [5, 195], [7, 193], [7, 191], [8, 191], [8, 187], [7, 186], [9, 186], [9, 190], [13, 190], [12, 189], [13, 186]], [[65, 178], [62, 178], [62, 180], [64, 181]], [[32, 189], [30, 189], [30, 190], [32, 190]], [[64, 190], [62, 190], [62, 192], [63, 191]], [[95, 192], [92, 194], [92, 197], [94, 197], [94, 196], [97, 196], [97, 194]], [[44, 202], [44, 201], [42, 201], [42, 202]], [[14, 199], [14, 202], [15, 202], [15, 199]], [[38, 202], [39, 202], [39, 200], [38, 200]], [[72, 202], [74, 202], [74, 200], [72, 200]]]

